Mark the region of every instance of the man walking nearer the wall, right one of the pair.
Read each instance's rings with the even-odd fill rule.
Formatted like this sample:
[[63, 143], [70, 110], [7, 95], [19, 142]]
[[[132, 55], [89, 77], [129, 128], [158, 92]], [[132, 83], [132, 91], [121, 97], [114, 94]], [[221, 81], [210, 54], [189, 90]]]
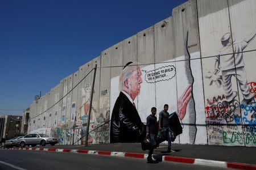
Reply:
[[170, 121], [169, 121], [169, 113], [168, 111], [168, 104], [164, 104], [164, 109], [159, 113], [159, 131], [164, 130], [164, 132], [167, 134], [167, 141], [168, 141], [168, 149], [167, 153], [171, 152], [171, 127], [170, 127]]

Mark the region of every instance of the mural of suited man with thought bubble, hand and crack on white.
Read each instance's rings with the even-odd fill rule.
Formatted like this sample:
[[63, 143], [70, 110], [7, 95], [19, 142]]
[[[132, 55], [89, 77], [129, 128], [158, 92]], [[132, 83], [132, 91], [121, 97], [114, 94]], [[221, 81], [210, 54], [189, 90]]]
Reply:
[[[169, 94], [169, 92], [170, 94], [176, 94], [176, 87], [174, 89], [168, 89], [165, 87], [168, 87], [170, 86], [169, 84], [174, 83], [174, 86], [177, 86], [175, 82], [177, 76], [176, 70], [179, 70], [179, 78], [183, 80], [185, 79], [184, 82], [187, 82], [187, 85], [184, 84], [184, 87], [179, 87], [182, 89], [183, 93], [180, 94], [179, 99], [173, 98], [171, 100], [170, 108], [172, 112], [179, 112], [181, 121], [185, 117], [185, 122], [186, 124], [188, 124], [188, 126], [186, 127], [188, 128], [188, 135], [184, 135], [184, 138], [186, 138], [185, 141], [192, 144], [195, 143], [197, 131], [196, 109], [199, 110], [200, 104], [198, 104], [196, 107], [192, 93], [194, 86], [194, 77], [190, 63], [191, 57], [187, 49], [187, 39], [188, 35], [184, 40], [185, 55], [179, 58], [185, 59], [185, 62], [180, 62], [179, 69], [177, 69], [177, 65], [176, 67], [175, 65], [170, 65], [170, 63], [175, 63], [174, 59], [170, 61], [165, 61], [165, 63], [162, 64], [158, 64], [158, 67], [155, 67], [154, 70], [152, 70], [151, 65], [141, 68], [141, 65], [139, 65], [139, 63], [133, 61], [128, 62], [126, 66], [123, 67], [120, 76], [112, 78], [111, 86], [117, 87], [116, 84], [118, 84], [118, 89], [111, 89], [112, 94], [115, 95], [112, 95], [110, 100], [113, 102], [111, 104], [113, 108], [111, 109], [112, 115], [110, 120], [110, 142], [139, 142], [139, 140], [144, 137], [144, 122], [146, 122], [146, 117], [149, 113], [141, 113], [141, 111], [145, 111], [146, 107], [150, 108], [154, 106], [137, 105], [137, 97], [139, 96], [142, 100], [150, 100], [150, 96], [148, 98], [145, 91], [147, 91], [147, 89], [151, 89], [150, 86], [152, 86], [152, 84], [158, 86], [158, 83], [161, 83], [160, 86], [164, 86], [163, 91], [166, 91], [167, 94]], [[193, 54], [193, 57], [198, 54], [199, 53]], [[192, 65], [195, 65], [195, 63], [193, 63]], [[198, 75], [196, 77], [198, 77]], [[200, 84], [202, 82], [200, 81], [200, 79], [197, 79], [196, 83]], [[199, 89], [197, 89], [196, 91], [198, 90]], [[119, 95], [117, 96], [118, 93]], [[199, 95], [203, 96], [203, 94], [199, 92], [198, 94], [196, 94], [196, 97], [198, 97]], [[161, 97], [159, 96], [159, 99], [160, 98]], [[157, 107], [160, 107], [162, 109], [163, 104], [167, 103], [167, 101], [162, 100], [160, 101], [160, 103], [162, 103], [162, 106]], [[175, 110], [176, 104], [177, 110]], [[139, 107], [140, 113], [138, 112], [137, 107]]]

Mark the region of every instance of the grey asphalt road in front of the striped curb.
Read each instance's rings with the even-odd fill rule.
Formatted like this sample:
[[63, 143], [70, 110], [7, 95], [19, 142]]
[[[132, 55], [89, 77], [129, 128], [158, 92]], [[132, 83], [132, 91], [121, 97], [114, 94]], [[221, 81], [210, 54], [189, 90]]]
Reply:
[[[15, 167], [14, 167], [15, 166]], [[184, 163], [147, 164], [145, 159], [65, 152], [0, 150], [0, 169], [221, 169]], [[222, 168], [224, 169], [224, 168]]]

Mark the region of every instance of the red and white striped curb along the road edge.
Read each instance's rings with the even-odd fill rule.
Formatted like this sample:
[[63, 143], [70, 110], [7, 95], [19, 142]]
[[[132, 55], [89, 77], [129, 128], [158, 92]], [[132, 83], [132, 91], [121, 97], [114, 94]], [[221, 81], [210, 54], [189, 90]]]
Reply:
[[[81, 153], [81, 154], [109, 155], [109, 156], [118, 156], [118, 157], [130, 157], [130, 158], [147, 159], [147, 154], [133, 153], [133, 152], [70, 150], [70, 149], [60, 149], [60, 148], [36, 148], [36, 147], [9, 148], [9, 150], [35, 150], [35, 151], [53, 151], [53, 152], [72, 152], [72, 153]], [[255, 169], [256, 170], [256, 165], [254, 165], [254, 164], [222, 162], [222, 161], [216, 161], [216, 160], [185, 158], [185, 157], [179, 157], [179, 156], [163, 156], [162, 160], [164, 162], [189, 163], [189, 164], [195, 164], [195, 165], [205, 165], [205, 166], [210, 166], [210, 167]]]

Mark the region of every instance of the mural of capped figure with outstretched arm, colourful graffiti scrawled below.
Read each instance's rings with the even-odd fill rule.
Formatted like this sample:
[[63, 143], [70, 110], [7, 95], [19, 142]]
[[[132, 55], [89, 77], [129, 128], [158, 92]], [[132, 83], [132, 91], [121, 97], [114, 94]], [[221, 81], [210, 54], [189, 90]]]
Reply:
[[214, 71], [205, 74], [209, 86], [214, 83], [214, 88], [222, 88], [224, 92], [207, 99], [205, 107], [208, 139], [212, 145], [255, 145], [255, 83], [247, 83], [243, 59], [243, 50], [255, 35], [256, 31], [251, 32], [237, 42], [231, 33], [225, 33]]

